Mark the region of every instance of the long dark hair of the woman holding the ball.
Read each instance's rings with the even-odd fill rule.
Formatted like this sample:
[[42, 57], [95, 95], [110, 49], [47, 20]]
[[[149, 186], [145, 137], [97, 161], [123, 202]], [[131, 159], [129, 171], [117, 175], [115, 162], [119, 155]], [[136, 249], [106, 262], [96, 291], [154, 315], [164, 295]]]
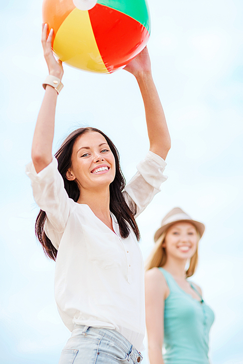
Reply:
[[[137, 240], [140, 238], [139, 228], [135, 221], [134, 216], [137, 213], [137, 206], [136, 204], [131, 201], [129, 202], [129, 206], [127, 205], [124, 195], [121, 193], [125, 187], [125, 178], [121, 172], [120, 166], [120, 158], [119, 153], [112, 141], [108, 138], [104, 132], [101, 132], [95, 128], [79, 128], [74, 132], [71, 132], [69, 136], [65, 139], [61, 147], [55, 154], [55, 157], [58, 161], [58, 171], [60, 172], [63, 181], [64, 187], [69, 195], [70, 199], [73, 199], [75, 202], [78, 201], [80, 196], [80, 191], [78, 185], [75, 181], [69, 181], [66, 178], [66, 173], [68, 169], [71, 167], [71, 156], [72, 156], [72, 149], [77, 140], [77, 138], [86, 133], [86, 132], [99, 132], [102, 134], [110, 147], [116, 162], [116, 174], [114, 181], [110, 183], [110, 211], [116, 216], [119, 230], [122, 238], [127, 238], [130, 229], [133, 230], [134, 234], [136, 235]], [[44, 232], [44, 224], [46, 221], [46, 213], [45, 211], [40, 210], [36, 222], [35, 222], [35, 234], [41, 243], [45, 254], [51, 258], [52, 260], [56, 260], [57, 249], [52, 245], [51, 240], [48, 238], [46, 233]]]

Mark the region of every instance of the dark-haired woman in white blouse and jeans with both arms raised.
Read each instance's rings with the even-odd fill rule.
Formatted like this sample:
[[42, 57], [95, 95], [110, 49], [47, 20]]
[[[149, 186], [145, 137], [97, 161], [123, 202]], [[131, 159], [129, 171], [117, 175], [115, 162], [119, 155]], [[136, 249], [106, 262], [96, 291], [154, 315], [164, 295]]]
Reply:
[[[56, 260], [55, 299], [72, 331], [59, 364], [139, 363], [145, 331], [143, 260], [135, 217], [166, 180], [170, 136], [145, 48], [125, 69], [138, 81], [150, 150], [125, 186], [119, 155], [100, 130], [72, 132], [52, 157], [62, 63], [42, 29], [49, 69], [27, 174], [41, 211], [36, 234]], [[124, 126], [125, 127], [125, 126]]]

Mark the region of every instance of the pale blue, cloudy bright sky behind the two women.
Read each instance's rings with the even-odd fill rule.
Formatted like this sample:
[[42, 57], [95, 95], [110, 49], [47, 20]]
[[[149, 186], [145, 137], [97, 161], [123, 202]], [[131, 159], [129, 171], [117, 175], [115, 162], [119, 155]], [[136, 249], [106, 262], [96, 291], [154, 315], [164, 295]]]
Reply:
[[[35, 205], [24, 173], [48, 74], [40, 0], [0, 2], [0, 363], [57, 364], [70, 332], [55, 306], [55, 264], [35, 239]], [[243, 364], [243, 3], [149, 0], [148, 49], [172, 138], [168, 180], [138, 217], [144, 259], [154, 232], [179, 206], [206, 225], [192, 280], [214, 310], [212, 364]], [[64, 65], [53, 152], [77, 127], [103, 130], [127, 181], [149, 143], [139, 88]], [[146, 345], [146, 342], [145, 342]], [[144, 364], [148, 364], [147, 351]]]

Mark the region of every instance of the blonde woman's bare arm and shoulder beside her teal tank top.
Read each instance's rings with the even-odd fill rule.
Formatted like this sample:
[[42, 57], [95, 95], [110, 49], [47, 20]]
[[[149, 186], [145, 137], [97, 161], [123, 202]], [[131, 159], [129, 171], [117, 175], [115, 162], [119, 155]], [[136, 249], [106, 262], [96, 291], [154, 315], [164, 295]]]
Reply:
[[158, 268], [145, 273], [145, 309], [150, 364], [164, 364], [164, 300], [169, 294], [165, 279]]

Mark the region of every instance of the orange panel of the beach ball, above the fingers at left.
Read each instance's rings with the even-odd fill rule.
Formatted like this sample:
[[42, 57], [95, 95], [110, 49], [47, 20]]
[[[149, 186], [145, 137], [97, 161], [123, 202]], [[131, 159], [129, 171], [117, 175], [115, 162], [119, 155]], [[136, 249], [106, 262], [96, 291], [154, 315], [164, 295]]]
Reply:
[[60, 28], [63, 21], [75, 8], [72, 0], [44, 0], [42, 5], [42, 19], [43, 23], [47, 23], [49, 31], [51, 28], [54, 31], [52, 37], [52, 47], [55, 39], [55, 35]]

